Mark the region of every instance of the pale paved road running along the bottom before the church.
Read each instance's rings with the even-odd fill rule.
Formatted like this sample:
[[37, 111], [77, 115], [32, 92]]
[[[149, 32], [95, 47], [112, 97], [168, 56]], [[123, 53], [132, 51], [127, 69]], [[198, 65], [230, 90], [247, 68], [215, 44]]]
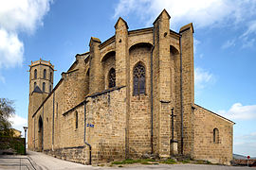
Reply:
[[[7, 158], [7, 157], [5, 157]], [[19, 159], [21, 158], [21, 159]], [[36, 170], [256, 170], [256, 168], [249, 167], [233, 167], [220, 165], [204, 165], [204, 164], [157, 164], [157, 165], [122, 165], [124, 167], [101, 167], [83, 165], [71, 161], [63, 161], [57, 158], [47, 156], [40, 152], [28, 151], [27, 156], [9, 156], [8, 159], [0, 157], [0, 170], [2, 169], [33, 169], [30, 162], [32, 162]], [[7, 165], [9, 164], [9, 165]], [[22, 165], [20, 167], [20, 165]]]

